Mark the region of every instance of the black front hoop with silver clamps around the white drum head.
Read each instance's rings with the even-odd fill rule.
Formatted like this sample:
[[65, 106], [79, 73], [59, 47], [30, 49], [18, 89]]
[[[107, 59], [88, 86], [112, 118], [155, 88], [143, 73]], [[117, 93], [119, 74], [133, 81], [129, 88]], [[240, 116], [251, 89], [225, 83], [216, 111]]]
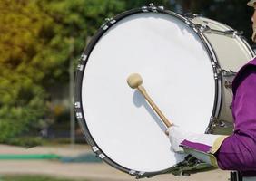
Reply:
[[[106, 23], [104, 23], [101, 28], [94, 34], [92, 40], [90, 43], [85, 47], [84, 52], [82, 53], [81, 58], [79, 59], [79, 63], [77, 66], [77, 71], [75, 75], [75, 86], [74, 86], [74, 111], [75, 111], [75, 117], [78, 120], [79, 125], [83, 129], [83, 134], [84, 138], [86, 139], [87, 143], [92, 147], [94, 153], [96, 154], [97, 157], [100, 157], [104, 162], [106, 162], [108, 165], [115, 167], [125, 173], [128, 173], [132, 176], [137, 176], [138, 178], [143, 178], [143, 177], [151, 177], [159, 174], [165, 174], [172, 172], [172, 170], [177, 170], [178, 167], [180, 167], [180, 164], [177, 164], [177, 166], [173, 166], [161, 171], [156, 171], [156, 172], [142, 172], [138, 170], [132, 170], [127, 167], [123, 167], [113, 161], [110, 157], [107, 157], [107, 155], [103, 152], [101, 148], [98, 147], [97, 143], [94, 141], [94, 138], [92, 134], [90, 133], [85, 117], [84, 117], [84, 111], [83, 111], [83, 105], [82, 105], [82, 82], [83, 82], [83, 77], [84, 77], [84, 70], [86, 63], [88, 62], [88, 58], [90, 56], [90, 53], [94, 50], [94, 46], [98, 42], [98, 40], [103, 36], [107, 30], [113, 26], [116, 22], [122, 20], [123, 18], [133, 15], [133, 14], [140, 14], [140, 13], [162, 13], [162, 14], [169, 14], [172, 15], [180, 20], [182, 20], [183, 23], [187, 24], [189, 28], [192, 28], [192, 30], [195, 32], [195, 34], [198, 35], [198, 37], [201, 39], [203, 45], [205, 46], [210, 61], [212, 62], [212, 69], [214, 76], [217, 75], [217, 66], [218, 65], [218, 60], [216, 53], [214, 52], [211, 43], [207, 40], [207, 38], [201, 33], [197, 28], [195, 28], [194, 24], [188, 19], [183, 17], [180, 14], [176, 14], [170, 10], [164, 10], [161, 6], [143, 6], [142, 8], [135, 8], [126, 12], [123, 12], [122, 14], [117, 14], [115, 17], [108, 19]], [[217, 110], [220, 110], [220, 105], [217, 105], [218, 103], [220, 104], [221, 101], [216, 101], [220, 100], [222, 96], [222, 82], [220, 79], [215, 79], [215, 97], [214, 97], [214, 105], [213, 105], [213, 110], [212, 110], [212, 117], [216, 117], [216, 112], [220, 112]], [[211, 117], [211, 118], [212, 118]], [[206, 131], [207, 132], [207, 129]], [[209, 166], [208, 166], [209, 167]]]

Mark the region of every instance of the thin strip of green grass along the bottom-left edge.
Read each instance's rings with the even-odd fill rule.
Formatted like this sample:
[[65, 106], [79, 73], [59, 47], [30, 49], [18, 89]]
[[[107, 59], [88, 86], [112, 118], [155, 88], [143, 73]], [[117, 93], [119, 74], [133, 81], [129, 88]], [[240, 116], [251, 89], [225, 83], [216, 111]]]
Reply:
[[89, 181], [85, 179], [65, 179], [54, 176], [37, 176], [37, 175], [6, 175], [0, 176], [0, 181]]

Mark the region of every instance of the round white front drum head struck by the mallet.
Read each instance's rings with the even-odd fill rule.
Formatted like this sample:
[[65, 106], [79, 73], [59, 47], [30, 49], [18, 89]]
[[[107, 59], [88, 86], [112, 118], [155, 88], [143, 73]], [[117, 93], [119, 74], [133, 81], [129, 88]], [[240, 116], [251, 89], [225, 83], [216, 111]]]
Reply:
[[215, 96], [212, 64], [201, 39], [170, 14], [133, 14], [117, 21], [95, 44], [84, 69], [85, 124], [97, 147], [116, 164], [157, 172], [179, 163], [166, 129], [126, 82], [140, 73], [165, 116], [203, 133]]

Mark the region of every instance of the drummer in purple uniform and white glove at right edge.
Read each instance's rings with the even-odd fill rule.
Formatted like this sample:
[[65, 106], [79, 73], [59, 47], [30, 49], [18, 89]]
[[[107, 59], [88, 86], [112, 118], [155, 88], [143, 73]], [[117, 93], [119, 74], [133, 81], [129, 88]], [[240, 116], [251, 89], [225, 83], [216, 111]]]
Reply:
[[[252, 41], [256, 42], [256, 0], [247, 5], [254, 7]], [[237, 170], [243, 180], [256, 181], [256, 58], [238, 72], [232, 91], [234, 131], [231, 136], [193, 134], [177, 126], [167, 131], [173, 151], [189, 153], [223, 170]]]

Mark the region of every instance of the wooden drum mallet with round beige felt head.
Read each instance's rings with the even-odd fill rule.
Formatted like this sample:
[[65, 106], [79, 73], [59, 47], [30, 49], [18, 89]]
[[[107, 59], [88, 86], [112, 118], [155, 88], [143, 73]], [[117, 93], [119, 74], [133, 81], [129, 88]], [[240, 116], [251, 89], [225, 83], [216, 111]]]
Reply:
[[153, 100], [150, 98], [150, 96], [147, 94], [146, 90], [143, 88], [143, 78], [138, 73], [133, 73], [127, 78], [128, 85], [133, 88], [139, 90], [143, 97], [148, 101], [148, 103], [151, 105], [153, 110], [157, 113], [157, 115], [162, 119], [162, 122], [165, 124], [167, 128], [172, 127], [172, 122], [170, 122], [166, 117], [162, 114], [162, 111], [159, 110], [159, 108], [155, 105]]

